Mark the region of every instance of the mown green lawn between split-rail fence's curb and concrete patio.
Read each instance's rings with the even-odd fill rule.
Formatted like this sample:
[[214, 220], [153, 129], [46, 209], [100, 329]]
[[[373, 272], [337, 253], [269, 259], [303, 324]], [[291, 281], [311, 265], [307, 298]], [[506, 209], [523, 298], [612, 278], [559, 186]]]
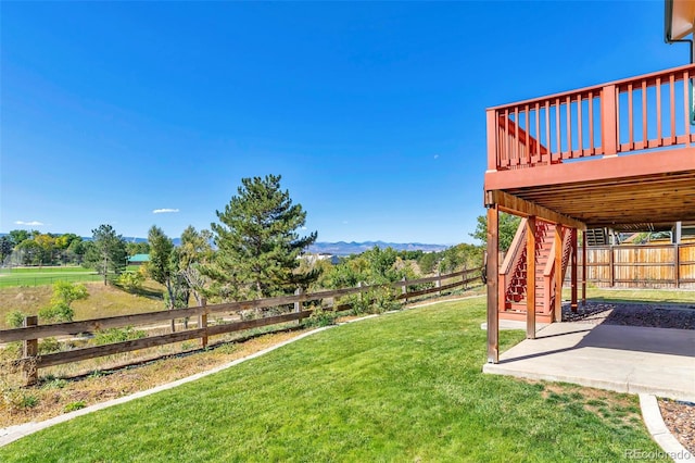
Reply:
[[[0, 449], [14, 462], [620, 461], [634, 396], [483, 375], [483, 298], [343, 325]], [[523, 338], [502, 331], [507, 349]], [[134, 371], [137, 374], [137, 371]]]

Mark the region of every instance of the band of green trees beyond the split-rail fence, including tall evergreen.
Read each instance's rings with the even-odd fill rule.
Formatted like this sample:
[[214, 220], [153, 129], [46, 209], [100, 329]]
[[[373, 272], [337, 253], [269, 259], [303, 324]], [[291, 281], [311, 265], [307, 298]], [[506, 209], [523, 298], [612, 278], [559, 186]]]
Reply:
[[[130, 243], [103, 224], [92, 230], [91, 240], [74, 234], [13, 230], [0, 238], [2, 256], [14, 251], [29, 264], [78, 263], [102, 275], [104, 284], [113, 281], [126, 289], [136, 289], [149, 277], [164, 287], [169, 310], [186, 308], [191, 299], [198, 304], [202, 298], [250, 300], [292, 293], [298, 287], [386, 287], [403, 278], [482, 265], [483, 247], [466, 243], [429, 253], [375, 247], [343, 258], [338, 265], [300, 259], [317, 233], [300, 233], [305, 229], [306, 212], [292, 202], [280, 180], [279, 175], [242, 178], [229, 203], [216, 211], [217, 222], [210, 229], [189, 226], [179, 246], [156, 225], [149, 229], [147, 243]], [[486, 232], [480, 218], [473, 237]], [[140, 271], [128, 272], [127, 258], [136, 253], [149, 253], [150, 260]]]

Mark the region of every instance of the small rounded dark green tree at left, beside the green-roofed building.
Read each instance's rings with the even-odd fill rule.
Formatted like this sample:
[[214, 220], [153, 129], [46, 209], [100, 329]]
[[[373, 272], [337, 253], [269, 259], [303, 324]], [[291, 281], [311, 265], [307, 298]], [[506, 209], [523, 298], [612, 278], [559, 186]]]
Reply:
[[121, 275], [126, 268], [126, 243], [111, 225], [100, 225], [91, 230], [92, 241], [85, 254], [85, 266], [103, 275], [104, 285], [110, 273]]

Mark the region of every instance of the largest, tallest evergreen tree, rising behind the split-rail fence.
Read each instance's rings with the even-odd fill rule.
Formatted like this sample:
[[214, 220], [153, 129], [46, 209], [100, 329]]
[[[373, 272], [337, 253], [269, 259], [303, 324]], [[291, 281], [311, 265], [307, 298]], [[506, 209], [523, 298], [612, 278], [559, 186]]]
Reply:
[[255, 299], [292, 292], [313, 273], [299, 274], [300, 253], [316, 241], [316, 232], [301, 237], [306, 212], [280, 189], [279, 175], [242, 178], [219, 223], [211, 225], [216, 259], [205, 273], [223, 298]]

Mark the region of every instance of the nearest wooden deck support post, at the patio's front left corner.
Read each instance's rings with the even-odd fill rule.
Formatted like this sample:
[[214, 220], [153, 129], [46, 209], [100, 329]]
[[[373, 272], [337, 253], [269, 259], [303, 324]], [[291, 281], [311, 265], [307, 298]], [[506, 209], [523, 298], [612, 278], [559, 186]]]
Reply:
[[500, 210], [488, 204], [488, 363], [500, 362], [500, 314], [497, 313], [497, 285], [500, 279]]

